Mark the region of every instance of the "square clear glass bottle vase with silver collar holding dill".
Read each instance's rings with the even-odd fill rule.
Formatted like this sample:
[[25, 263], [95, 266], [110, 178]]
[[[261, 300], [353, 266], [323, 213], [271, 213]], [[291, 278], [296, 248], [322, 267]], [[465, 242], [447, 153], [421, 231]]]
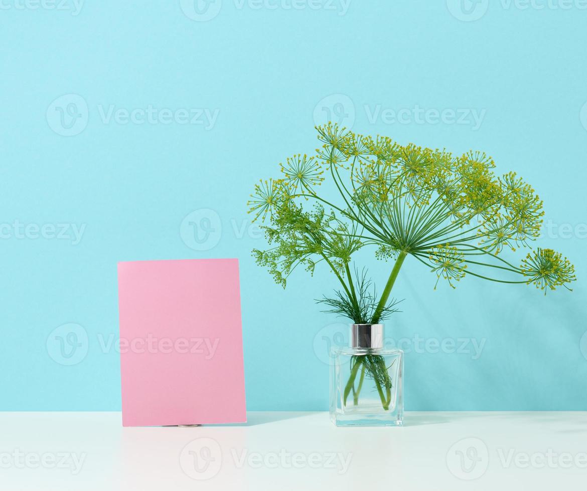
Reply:
[[351, 346], [330, 357], [330, 420], [337, 426], [403, 423], [403, 351], [383, 348], [382, 324], [353, 324]]

